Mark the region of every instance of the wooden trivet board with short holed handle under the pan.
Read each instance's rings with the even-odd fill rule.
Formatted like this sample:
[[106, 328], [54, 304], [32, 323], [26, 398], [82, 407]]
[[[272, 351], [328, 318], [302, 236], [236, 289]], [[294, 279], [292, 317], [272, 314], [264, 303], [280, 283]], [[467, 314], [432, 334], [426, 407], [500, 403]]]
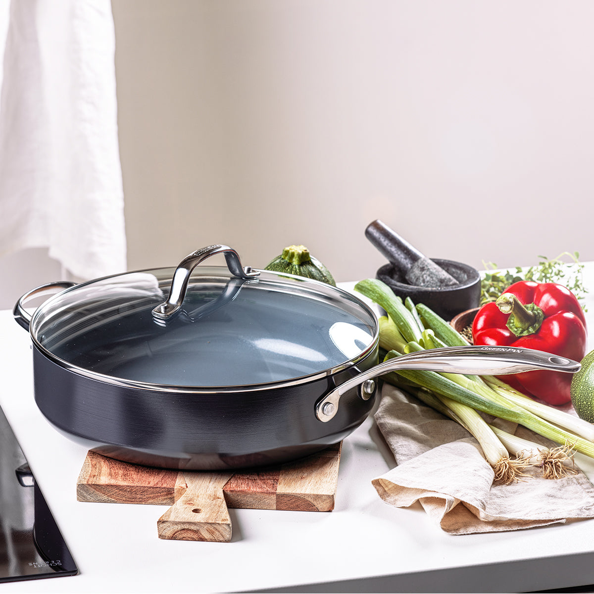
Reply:
[[229, 508], [331, 511], [342, 443], [296, 462], [233, 472], [162, 470], [87, 453], [78, 501], [171, 505], [159, 538], [229, 542]]

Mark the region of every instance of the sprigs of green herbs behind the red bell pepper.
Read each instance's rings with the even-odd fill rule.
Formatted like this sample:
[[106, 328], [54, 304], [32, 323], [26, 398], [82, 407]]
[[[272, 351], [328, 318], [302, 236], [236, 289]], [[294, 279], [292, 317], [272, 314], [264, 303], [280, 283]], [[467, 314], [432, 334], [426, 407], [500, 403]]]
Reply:
[[[485, 270], [481, 282], [481, 305], [495, 301], [508, 286], [520, 280], [534, 280], [538, 283], [558, 283], [567, 287], [578, 300], [584, 299], [587, 290], [583, 285], [584, 265], [579, 261], [579, 253], [563, 252], [557, 258], [549, 260], [546, 256], [541, 258], [536, 266], [529, 268], [516, 267], [514, 271], [497, 270], [497, 265], [483, 262]], [[570, 261], [564, 261], [563, 258]], [[585, 307], [582, 305], [585, 310]]]

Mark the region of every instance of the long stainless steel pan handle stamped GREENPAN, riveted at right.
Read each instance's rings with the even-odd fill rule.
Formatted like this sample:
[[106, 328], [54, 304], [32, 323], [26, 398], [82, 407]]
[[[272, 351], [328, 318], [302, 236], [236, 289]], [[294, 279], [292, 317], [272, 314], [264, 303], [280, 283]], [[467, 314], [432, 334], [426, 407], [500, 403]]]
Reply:
[[399, 369], [505, 375], [532, 369], [575, 373], [579, 368], [580, 364], [577, 361], [551, 355], [542, 350], [507, 346], [451, 346], [443, 349], [421, 350], [384, 361], [340, 384], [316, 404], [315, 416], [320, 421], [330, 421], [338, 412], [340, 397], [348, 390], [362, 386], [364, 389], [361, 390], [361, 397], [367, 400], [373, 393], [373, 387], [368, 383], [372, 378]]

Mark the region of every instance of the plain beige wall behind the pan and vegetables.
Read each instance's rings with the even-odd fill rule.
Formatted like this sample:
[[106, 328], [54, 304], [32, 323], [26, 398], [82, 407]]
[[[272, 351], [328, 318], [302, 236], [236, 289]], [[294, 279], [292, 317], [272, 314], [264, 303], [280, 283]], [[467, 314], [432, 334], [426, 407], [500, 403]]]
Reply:
[[[129, 268], [298, 242], [359, 279], [376, 218], [476, 267], [594, 260], [594, 2], [112, 7]], [[0, 263], [4, 307], [59, 273], [27, 257]]]

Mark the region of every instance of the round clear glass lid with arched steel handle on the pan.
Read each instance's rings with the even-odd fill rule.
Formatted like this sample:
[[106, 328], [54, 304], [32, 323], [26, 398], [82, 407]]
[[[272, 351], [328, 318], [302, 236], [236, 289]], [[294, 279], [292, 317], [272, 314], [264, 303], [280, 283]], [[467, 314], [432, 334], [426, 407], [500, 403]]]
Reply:
[[[229, 270], [201, 266], [192, 273], [219, 252]], [[103, 378], [213, 388], [295, 380], [349, 364], [374, 345], [377, 321], [343, 290], [242, 268], [235, 251], [210, 246], [175, 269], [64, 290], [37, 309], [31, 335], [62, 364]]]

